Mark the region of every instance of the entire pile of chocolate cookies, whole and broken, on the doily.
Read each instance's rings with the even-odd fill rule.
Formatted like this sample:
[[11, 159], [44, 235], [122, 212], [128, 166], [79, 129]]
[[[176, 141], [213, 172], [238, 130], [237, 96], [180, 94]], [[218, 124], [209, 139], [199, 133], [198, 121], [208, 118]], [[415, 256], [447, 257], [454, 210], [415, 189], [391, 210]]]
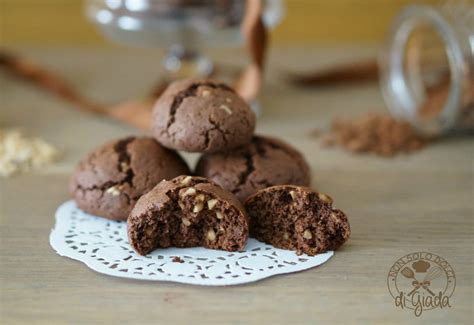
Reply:
[[[170, 246], [238, 251], [250, 234], [315, 255], [348, 239], [346, 215], [307, 187], [303, 156], [282, 140], [254, 135], [255, 115], [229, 86], [174, 82], [151, 124], [153, 138], [99, 147], [71, 181], [79, 208], [127, 220], [137, 253]], [[177, 151], [202, 153], [194, 173]]]

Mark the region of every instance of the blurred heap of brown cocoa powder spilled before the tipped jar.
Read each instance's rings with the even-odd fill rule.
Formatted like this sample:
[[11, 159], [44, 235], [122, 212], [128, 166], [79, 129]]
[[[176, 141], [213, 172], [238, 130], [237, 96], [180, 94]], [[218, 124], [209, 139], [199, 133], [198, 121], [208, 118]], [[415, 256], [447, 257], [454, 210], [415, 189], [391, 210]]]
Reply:
[[407, 122], [369, 112], [351, 120], [336, 119], [321, 137], [325, 146], [338, 145], [355, 153], [391, 157], [423, 148], [430, 139], [416, 134]]

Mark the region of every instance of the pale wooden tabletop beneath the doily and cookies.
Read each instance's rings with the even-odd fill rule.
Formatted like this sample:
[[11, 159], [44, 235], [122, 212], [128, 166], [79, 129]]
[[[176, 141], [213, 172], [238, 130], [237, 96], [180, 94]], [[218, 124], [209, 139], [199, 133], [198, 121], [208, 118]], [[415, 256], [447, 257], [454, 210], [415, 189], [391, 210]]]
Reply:
[[[143, 96], [156, 80], [156, 53], [117, 49], [22, 48], [104, 102]], [[270, 58], [259, 133], [295, 145], [312, 186], [347, 212], [352, 237], [321, 267], [233, 287], [134, 281], [98, 274], [49, 246], [54, 212], [69, 199], [73, 166], [102, 142], [137, 133], [78, 112], [21, 81], [0, 76], [0, 126], [21, 127], [63, 158], [0, 180], [0, 323], [470, 323], [473, 320], [473, 139], [449, 138], [385, 159], [323, 148], [308, 136], [336, 116], [383, 110], [376, 84], [299, 89], [286, 68], [305, 70], [374, 53], [366, 46], [280, 48]], [[242, 62], [238, 53], [216, 53]], [[194, 163], [196, 155], [185, 155]], [[387, 274], [401, 256], [438, 254], [456, 273], [451, 308], [416, 318], [396, 308]]]

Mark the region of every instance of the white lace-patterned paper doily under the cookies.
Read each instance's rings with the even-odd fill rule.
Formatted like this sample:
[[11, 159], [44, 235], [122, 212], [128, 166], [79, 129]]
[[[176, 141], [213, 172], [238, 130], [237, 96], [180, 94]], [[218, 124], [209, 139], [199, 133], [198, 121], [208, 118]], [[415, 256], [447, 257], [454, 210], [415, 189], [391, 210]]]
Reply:
[[107, 275], [213, 286], [242, 284], [306, 270], [326, 262], [334, 254], [329, 251], [298, 256], [294, 251], [249, 239], [243, 252], [167, 248], [140, 256], [128, 244], [125, 222], [84, 213], [74, 201], [63, 203], [56, 211], [56, 225], [49, 241], [59, 255], [79, 260]]

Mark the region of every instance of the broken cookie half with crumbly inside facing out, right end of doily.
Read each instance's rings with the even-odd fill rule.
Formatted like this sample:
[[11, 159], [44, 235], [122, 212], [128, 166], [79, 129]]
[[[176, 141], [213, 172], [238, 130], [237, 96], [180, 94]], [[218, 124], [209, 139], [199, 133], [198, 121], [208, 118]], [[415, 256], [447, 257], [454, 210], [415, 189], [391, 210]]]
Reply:
[[332, 199], [307, 187], [277, 185], [258, 191], [245, 201], [250, 235], [297, 254], [316, 255], [339, 248], [350, 227]]

